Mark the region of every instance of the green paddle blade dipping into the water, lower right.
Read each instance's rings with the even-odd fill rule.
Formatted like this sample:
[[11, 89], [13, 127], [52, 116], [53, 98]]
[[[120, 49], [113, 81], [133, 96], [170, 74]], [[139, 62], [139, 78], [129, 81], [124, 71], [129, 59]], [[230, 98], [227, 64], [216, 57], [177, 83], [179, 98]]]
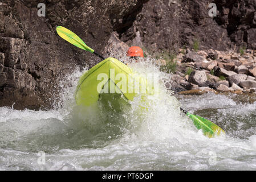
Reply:
[[222, 134], [225, 134], [224, 130], [222, 130], [219, 126], [214, 124], [212, 121], [209, 121], [208, 119], [190, 113], [187, 113], [186, 115], [188, 115], [188, 117], [192, 119], [197, 129], [201, 129], [204, 135], [209, 138], [216, 135], [220, 136]]

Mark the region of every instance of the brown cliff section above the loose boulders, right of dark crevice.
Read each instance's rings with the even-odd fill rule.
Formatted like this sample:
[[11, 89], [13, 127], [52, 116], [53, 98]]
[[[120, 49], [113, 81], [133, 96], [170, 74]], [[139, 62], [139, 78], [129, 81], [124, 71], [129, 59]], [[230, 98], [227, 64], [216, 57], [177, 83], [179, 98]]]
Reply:
[[151, 51], [177, 51], [183, 46], [227, 50], [256, 44], [256, 1], [215, 0], [217, 16], [210, 17], [210, 1], [148, 1], [126, 31], [117, 30], [121, 40], [140, 44]]

